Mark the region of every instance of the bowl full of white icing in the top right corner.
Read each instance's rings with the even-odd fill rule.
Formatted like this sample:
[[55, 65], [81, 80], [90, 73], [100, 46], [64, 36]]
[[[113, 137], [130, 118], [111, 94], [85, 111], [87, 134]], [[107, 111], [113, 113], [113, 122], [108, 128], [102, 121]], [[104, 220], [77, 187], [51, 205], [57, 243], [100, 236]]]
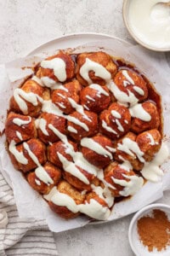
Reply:
[[169, 0], [124, 0], [123, 20], [131, 36], [145, 48], [170, 51]]

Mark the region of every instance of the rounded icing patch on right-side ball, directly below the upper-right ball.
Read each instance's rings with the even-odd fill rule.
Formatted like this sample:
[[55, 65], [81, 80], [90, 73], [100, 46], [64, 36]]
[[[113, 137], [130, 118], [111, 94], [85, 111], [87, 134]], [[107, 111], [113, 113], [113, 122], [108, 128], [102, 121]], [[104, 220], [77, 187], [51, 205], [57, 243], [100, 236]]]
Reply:
[[132, 108], [129, 108], [131, 115], [135, 118], [143, 120], [145, 122], [150, 122], [151, 116], [150, 113], [146, 112], [142, 104], [136, 104]]

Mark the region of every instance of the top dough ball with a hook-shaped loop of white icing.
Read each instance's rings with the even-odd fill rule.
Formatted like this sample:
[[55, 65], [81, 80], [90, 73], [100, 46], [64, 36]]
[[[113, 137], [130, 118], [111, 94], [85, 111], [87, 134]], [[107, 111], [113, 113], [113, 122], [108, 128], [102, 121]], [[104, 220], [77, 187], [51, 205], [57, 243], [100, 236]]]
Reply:
[[[88, 68], [82, 70], [85, 63], [86, 65], [88, 64]], [[97, 72], [99, 65], [105, 70], [106, 79], [104, 78], [103, 72]], [[82, 53], [77, 57], [77, 80], [85, 86], [88, 84], [105, 85], [107, 80], [113, 79], [116, 72], [116, 64], [111, 59], [111, 56], [105, 52]]]

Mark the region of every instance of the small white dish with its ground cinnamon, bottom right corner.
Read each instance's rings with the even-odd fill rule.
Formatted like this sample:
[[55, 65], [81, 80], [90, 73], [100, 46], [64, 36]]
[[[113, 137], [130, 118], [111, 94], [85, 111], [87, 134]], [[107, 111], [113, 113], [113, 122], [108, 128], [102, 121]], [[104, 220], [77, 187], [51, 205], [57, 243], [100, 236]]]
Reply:
[[137, 212], [128, 238], [137, 256], [170, 256], [170, 206], [152, 204]]

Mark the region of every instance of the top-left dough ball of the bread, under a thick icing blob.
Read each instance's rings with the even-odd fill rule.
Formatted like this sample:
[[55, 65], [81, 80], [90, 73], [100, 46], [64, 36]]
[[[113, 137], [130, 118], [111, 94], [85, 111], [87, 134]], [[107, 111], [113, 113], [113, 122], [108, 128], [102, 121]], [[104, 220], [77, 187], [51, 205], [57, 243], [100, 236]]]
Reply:
[[[48, 57], [40, 65], [37, 75], [40, 76], [44, 84], [46, 84], [44, 77], [48, 77], [48, 79], [52, 79], [55, 82], [65, 82], [65, 80], [72, 79], [75, 75], [75, 64], [71, 59], [71, 55], [67, 55], [62, 51], [57, 55]], [[63, 73], [65, 73], [64, 76]]]

